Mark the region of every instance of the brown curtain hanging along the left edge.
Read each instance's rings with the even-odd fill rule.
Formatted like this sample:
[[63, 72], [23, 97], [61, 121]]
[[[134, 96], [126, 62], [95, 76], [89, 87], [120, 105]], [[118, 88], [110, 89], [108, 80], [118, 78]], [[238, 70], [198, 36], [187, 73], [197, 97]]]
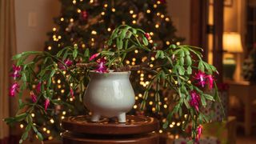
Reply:
[[11, 56], [16, 54], [15, 37], [14, 0], [0, 0], [0, 144], [14, 143], [2, 118], [9, 117], [12, 111], [8, 89]]

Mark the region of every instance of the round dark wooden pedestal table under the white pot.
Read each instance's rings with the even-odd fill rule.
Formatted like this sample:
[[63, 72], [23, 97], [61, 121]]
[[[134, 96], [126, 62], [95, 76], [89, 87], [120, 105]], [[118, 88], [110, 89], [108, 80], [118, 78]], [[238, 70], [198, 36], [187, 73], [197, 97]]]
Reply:
[[126, 115], [126, 123], [116, 118], [90, 122], [89, 115], [64, 118], [63, 144], [158, 144], [159, 123], [155, 118]]

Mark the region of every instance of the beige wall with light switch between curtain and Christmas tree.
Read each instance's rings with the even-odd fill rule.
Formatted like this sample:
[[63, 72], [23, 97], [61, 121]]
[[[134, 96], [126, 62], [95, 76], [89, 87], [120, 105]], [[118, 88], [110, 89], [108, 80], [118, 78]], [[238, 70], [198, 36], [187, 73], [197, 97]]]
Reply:
[[46, 33], [60, 12], [58, 0], [16, 0], [15, 10], [18, 53], [43, 50]]

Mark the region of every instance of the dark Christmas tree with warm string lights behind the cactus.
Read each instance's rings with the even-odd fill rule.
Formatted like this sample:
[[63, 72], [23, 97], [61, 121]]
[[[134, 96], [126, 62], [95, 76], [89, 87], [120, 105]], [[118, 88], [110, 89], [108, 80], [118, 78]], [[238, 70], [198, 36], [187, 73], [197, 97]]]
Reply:
[[[61, 0], [62, 11], [58, 18], [54, 18], [54, 22], [58, 27], [54, 27], [48, 34], [49, 41], [46, 42], [45, 50], [50, 54], [57, 54], [66, 46], [77, 46], [79, 53], [83, 54], [85, 50], [90, 50], [90, 54], [104, 48], [106, 38], [109, 38], [112, 30], [120, 24], [127, 24], [134, 27], [142, 28], [147, 32], [146, 37], [149, 39], [152, 49], [162, 49], [170, 44], [179, 45], [182, 38], [175, 35], [171, 18], [167, 16], [165, 0]], [[134, 50], [134, 54], [130, 54], [126, 59], [126, 64], [136, 65], [138, 62], [150, 63], [150, 67], [154, 66], [154, 55], [148, 55]], [[154, 93], [149, 92], [149, 99], [146, 103], [146, 110], [139, 109], [139, 103], [142, 101], [142, 94], [148, 85], [148, 79], [152, 76], [145, 71], [138, 70], [132, 74], [131, 82], [133, 83], [136, 104], [132, 113], [153, 115], [161, 120], [166, 121], [166, 116], [170, 109], [169, 99], [175, 97], [170, 91], [162, 90], [155, 101]], [[69, 115], [90, 114], [86, 111], [82, 103], [81, 90], [76, 90], [74, 98], [67, 97], [69, 86], [62, 83], [62, 78], [54, 77], [52, 81], [56, 83], [54, 89], [54, 97], [61, 98], [63, 101], [69, 102], [74, 106], [71, 110], [66, 106], [51, 106], [52, 113], [47, 113], [50, 119], [43, 116], [40, 112], [33, 114], [32, 117], [37, 126], [41, 127], [44, 138], [51, 139], [59, 136], [62, 131], [60, 121]], [[84, 89], [84, 88], [82, 88]], [[80, 94], [79, 94], [80, 93]], [[166, 103], [162, 103], [166, 102]], [[43, 103], [42, 103], [43, 105]], [[160, 113], [157, 111], [160, 110]], [[185, 115], [186, 118], [186, 115]], [[171, 122], [168, 131], [180, 133], [182, 129], [174, 129], [181, 126], [182, 119], [176, 118], [176, 122]], [[160, 130], [159, 132], [162, 132]]]

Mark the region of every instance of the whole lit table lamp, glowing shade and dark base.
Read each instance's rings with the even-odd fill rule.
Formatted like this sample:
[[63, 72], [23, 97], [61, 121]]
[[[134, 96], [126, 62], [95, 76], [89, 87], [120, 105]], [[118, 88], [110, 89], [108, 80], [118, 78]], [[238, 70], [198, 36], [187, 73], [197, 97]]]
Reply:
[[236, 65], [240, 62], [235, 54], [242, 53], [241, 35], [236, 32], [224, 32], [222, 43], [223, 50], [227, 53], [223, 56], [223, 75], [224, 78], [233, 80]]

